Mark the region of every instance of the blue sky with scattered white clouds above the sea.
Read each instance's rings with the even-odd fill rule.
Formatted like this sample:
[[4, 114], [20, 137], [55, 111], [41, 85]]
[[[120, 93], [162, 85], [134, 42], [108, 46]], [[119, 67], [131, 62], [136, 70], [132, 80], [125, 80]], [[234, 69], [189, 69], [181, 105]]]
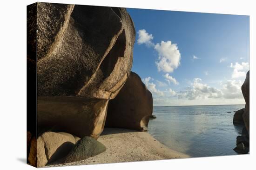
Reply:
[[131, 9], [132, 71], [154, 106], [244, 104], [249, 16]]

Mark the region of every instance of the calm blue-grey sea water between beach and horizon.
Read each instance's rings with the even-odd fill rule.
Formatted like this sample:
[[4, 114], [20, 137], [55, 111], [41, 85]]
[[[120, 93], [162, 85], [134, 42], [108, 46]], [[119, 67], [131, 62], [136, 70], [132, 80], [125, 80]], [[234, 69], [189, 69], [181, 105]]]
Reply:
[[[148, 132], [169, 148], [192, 157], [236, 155], [233, 111], [244, 105], [154, 107]], [[231, 112], [231, 113], [227, 113]]]

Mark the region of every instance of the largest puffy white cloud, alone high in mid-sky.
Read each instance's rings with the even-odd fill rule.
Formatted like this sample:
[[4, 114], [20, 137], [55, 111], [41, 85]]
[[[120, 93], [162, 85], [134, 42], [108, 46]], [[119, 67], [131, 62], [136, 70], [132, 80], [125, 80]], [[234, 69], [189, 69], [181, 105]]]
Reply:
[[181, 53], [178, 50], [177, 44], [172, 44], [171, 41], [155, 45], [155, 50], [158, 52], [158, 61], [156, 66], [158, 71], [172, 73], [180, 65]]

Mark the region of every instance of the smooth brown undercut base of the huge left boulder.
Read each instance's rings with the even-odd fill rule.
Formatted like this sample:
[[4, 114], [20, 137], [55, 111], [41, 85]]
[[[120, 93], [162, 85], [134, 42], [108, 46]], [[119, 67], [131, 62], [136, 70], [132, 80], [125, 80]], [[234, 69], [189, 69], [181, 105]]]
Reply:
[[38, 97], [38, 133], [67, 132], [95, 139], [103, 131], [108, 100], [79, 97]]

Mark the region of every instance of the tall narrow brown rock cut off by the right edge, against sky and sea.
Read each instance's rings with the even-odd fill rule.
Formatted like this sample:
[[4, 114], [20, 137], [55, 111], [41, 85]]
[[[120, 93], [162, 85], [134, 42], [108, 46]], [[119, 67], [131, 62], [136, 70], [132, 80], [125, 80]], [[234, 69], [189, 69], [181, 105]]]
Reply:
[[250, 112], [250, 80], [249, 80], [250, 72], [248, 71], [246, 74], [245, 81], [243, 82], [242, 85], [242, 93], [243, 93], [243, 98], [245, 100], [245, 108], [244, 108], [244, 113], [243, 113], [243, 122], [244, 125], [248, 131], [249, 134], [249, 128], [250, 128], [250, 120], [249, 120], [249, 112]]

